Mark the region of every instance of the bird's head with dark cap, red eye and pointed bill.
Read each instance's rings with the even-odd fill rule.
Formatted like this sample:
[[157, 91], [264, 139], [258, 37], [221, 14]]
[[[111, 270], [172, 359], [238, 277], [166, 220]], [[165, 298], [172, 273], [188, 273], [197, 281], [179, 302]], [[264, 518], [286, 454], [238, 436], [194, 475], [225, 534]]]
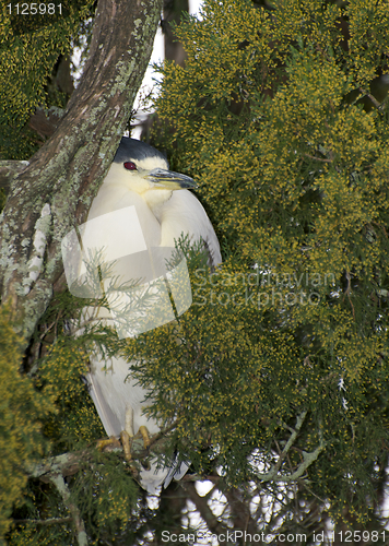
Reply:
[[167, 159], [155, 147], [126, 136], [113, 167], [117, 181], [141, 195], [156, 216], [174, 190], [197, 187], [189, 176], [169, 170]]

